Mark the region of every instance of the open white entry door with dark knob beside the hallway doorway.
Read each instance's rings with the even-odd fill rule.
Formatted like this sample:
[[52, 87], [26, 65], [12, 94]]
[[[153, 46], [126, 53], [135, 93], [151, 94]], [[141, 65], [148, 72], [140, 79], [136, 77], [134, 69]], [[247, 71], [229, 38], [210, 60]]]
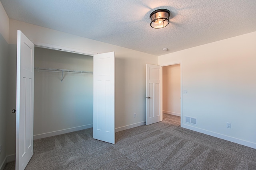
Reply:
[[146, 100], [146, 125], [162, 121], [162, 66], [146, 64]]

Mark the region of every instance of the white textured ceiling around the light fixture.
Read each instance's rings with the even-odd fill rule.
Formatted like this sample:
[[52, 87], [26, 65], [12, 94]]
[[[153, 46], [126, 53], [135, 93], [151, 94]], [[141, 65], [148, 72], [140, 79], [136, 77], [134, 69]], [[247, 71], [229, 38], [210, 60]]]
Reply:
[[[10, 19], [164, 55], [256, 31], [256, 0], [1, 0]], [[150, 27], [156, 9], [167, 27]], [[168, 51], [162, 51], [168, 48]]]

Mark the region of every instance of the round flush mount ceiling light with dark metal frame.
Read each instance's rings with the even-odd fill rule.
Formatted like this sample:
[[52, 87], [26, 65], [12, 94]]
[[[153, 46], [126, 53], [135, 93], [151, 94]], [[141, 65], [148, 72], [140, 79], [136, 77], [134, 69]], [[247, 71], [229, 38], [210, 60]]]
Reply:
[[163, 28], [169, 24], [170, 11], [166, 9], [155, 10], [150, 14], [150, 26], [152, 28]]

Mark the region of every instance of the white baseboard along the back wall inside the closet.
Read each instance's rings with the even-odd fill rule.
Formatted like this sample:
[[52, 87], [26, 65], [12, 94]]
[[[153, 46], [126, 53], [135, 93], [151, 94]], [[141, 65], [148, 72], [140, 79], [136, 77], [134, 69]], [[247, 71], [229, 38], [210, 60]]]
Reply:
[[59, 131], [42, 133], [39, 135], [34, 135], [34, 140], [42, 139], [42, 138], [46, 138], [46, 137], [52, 137], [52, 136], [56, 136], [56, 135], [62, 135], [64, 133], [70, 133], [70, 132], [74, 132], [74, 131], [80, 131], [80, 130], [88, 129], [91, 127], [92, 127], [92, 124], [89, 124], [89, 125], [83, 125], [83, 126], [78, 126], [78, 127], [72, 127], [69, 129], [63, 129], [63, 130], [59, 130]]

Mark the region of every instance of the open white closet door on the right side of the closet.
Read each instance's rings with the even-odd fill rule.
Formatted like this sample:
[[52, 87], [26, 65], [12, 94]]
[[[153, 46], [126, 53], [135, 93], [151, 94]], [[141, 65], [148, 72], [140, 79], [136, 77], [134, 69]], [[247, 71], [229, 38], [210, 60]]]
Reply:
[[93, 138], [115, 143], [115, 52], [93, 56]]

